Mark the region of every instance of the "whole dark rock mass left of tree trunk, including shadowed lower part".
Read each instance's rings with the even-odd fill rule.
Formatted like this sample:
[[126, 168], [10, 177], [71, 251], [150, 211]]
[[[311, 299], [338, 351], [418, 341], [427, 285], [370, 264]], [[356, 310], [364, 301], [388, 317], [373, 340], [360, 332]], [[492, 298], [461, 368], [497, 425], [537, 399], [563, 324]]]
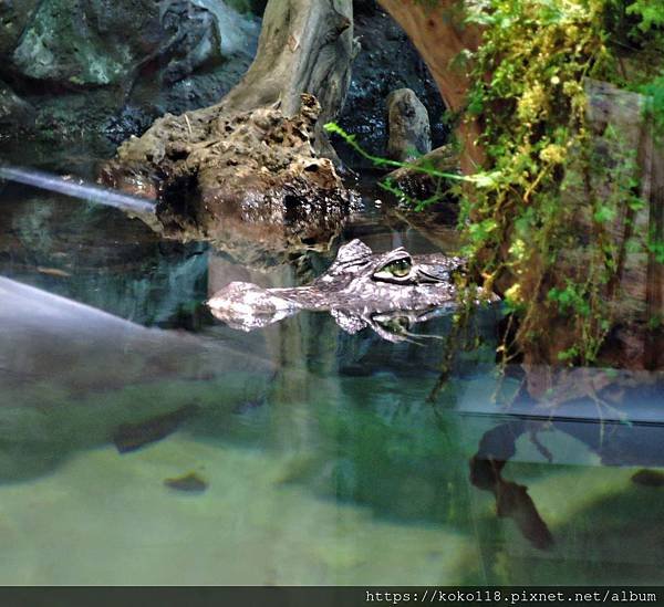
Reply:
[[250, 65], [259, 30], [222, 0], [0, 1], [3, 73], [46, 145], [120, 142], [166, 112], [218, 102]]

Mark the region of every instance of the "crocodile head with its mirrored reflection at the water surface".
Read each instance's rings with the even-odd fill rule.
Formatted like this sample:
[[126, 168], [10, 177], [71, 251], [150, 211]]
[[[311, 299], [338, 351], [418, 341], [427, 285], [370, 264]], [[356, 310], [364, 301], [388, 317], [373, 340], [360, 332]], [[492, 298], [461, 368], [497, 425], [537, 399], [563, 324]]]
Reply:
[[460, 258], [411, 255], [403, 248], [376, 254], [353, 240], [308, 286], [262, 289], [232, 282], [215, 293], [208, 305], [217, 318], [243, 331], [314, 310], [330, 311], [349, 333], [371, 326], [382, 337], [398, 342], [407, 339], [413, 324], [455, 306], [454, 273], [463, 264]]

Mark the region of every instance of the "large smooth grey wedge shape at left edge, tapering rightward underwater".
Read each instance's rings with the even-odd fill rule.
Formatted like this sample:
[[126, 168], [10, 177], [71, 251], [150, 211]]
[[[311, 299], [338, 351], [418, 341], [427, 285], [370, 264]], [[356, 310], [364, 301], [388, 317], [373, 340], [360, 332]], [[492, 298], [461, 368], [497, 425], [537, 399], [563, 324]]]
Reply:
[[[3, 278], [0, 326], [3, 481], [113, 438], [129, 448], [157, 440], [196, 414], [193, 404], [231, 419], [276, 370], [246, 347], [146, 328]], [[48, 453], [37, 470], [25, 467], [35, 446]]]

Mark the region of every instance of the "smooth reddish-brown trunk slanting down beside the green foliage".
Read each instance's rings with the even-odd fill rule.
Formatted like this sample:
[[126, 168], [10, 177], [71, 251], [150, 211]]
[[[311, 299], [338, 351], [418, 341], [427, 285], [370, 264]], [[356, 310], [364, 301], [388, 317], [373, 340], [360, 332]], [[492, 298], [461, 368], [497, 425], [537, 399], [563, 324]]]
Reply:
[[[470, 87], [468, 65], [459, 61], [461, 51], [474, 51], [481, 40], [481, 31], [463, 23], [459, 0], [439, 0], [435, 7], [416, 0], [378, 0], [381, 6], [403, 28], [426, 62], [440, 95], [453, 112], [466, 107]], [[460, 165], [466, 174], [475, 172], [485, 163], [477, 144], [480, 127], [477, 122], [458, 127], [463, 143]]]

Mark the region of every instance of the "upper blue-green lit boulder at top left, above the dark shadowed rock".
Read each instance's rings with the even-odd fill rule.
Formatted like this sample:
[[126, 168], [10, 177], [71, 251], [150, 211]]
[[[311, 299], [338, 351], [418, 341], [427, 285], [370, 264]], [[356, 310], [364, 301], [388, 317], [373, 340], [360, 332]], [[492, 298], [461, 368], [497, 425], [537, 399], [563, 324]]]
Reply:
[[13, 51], [19, 73], [76, 85], [131, 86], [148, 62], [159, 80], [181, 80], [206, 63], [253, 53], [255, 20], [216, 0], [46, 0]]

